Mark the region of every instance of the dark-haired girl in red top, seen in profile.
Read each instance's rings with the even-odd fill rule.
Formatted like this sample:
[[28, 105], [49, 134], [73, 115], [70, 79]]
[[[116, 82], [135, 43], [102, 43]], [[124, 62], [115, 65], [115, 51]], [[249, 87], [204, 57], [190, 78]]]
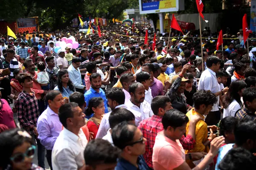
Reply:
[[90, 118], [87, 122], [87, 127], [89, 132], [93, 132], [93, 139], [95, 139], [99, 130], [100, 122], [105, 114], [103, 99], [101, 97], [91, 98], [84, 113], [86, 118]]

